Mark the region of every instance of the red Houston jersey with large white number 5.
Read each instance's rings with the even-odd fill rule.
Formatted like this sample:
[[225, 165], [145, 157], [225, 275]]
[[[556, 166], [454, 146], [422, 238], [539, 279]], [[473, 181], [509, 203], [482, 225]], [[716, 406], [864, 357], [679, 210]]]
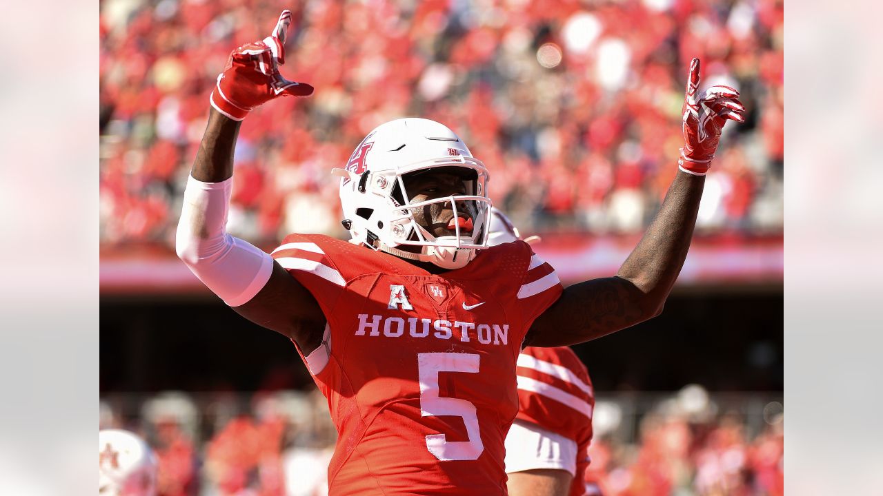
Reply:
[[561, 295], [552, 267], [521, 241], [444, 274], [319, 235], [273, 257], [328, 319], [305, 361], [338, 432], [329, 494], [505, 494], [518, 351]]

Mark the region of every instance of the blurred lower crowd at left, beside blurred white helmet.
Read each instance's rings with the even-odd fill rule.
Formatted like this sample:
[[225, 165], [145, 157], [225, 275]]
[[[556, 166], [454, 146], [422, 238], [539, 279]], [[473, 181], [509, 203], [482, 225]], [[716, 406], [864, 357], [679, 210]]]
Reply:
[[100, 428], [147, 440], [159, 496], [315, 496], [336, 439], [327, 410], [318, 392], [110, 396]]

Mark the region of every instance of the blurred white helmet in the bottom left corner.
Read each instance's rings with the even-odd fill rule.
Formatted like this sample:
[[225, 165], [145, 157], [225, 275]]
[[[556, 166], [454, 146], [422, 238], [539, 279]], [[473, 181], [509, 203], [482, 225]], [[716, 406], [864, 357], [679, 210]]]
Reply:
[[155, 496], [156, 457], [144, 440], [121, 429], [98, 432], [98, 493]]

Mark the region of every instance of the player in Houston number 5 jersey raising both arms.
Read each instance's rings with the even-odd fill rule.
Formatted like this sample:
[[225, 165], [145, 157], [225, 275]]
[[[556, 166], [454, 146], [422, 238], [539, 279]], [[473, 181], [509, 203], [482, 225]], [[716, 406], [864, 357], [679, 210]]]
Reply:
[[351, 242], [291, 235], [270, 257], [224, 224], [241, 121], [278, 96], [313, 93], [278, 70], [290, 23], [284, 11], [218, 77], [178, 256], [226, 304], [298, 347], [339, 433], [330, 494], [505, 494], [519, 350], [585, 342], [661, 311], [721, 126], [742, 118], [737, 94], [699, 99], [694, 61], [683, 172], [613, 277], [562, 289], [528, 244], [487, 248], [487, 169], [449, 128], [416, 118], [382, 124], [335, 170]]

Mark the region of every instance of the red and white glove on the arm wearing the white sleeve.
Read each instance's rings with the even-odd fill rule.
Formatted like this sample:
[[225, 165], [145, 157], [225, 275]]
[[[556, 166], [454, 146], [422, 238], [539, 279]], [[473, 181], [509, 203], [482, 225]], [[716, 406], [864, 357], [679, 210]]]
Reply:
[[279, 73], [279, 65], [285, 64], [285, 33], [290, 24], [291, 11], [282, 11], [272, 34], [230, 53], [212, 91], [215, 110], [241, 121], [249, 111], [279, 95], [313, 94], [313, 86], [290, 81]]

